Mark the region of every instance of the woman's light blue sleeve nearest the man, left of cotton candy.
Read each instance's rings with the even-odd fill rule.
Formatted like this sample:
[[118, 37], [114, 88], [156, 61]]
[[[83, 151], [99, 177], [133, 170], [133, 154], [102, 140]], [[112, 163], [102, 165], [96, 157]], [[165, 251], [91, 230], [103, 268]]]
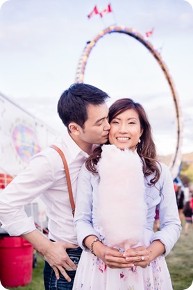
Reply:
[[76, 210], [74, 215], [74, 226], [77, 234], [78, 244], [83, 250], [88, 250], [83, 240], [85, 237], [94, 235], [99, 238], [99, 233], [92, 226], [92, 173], [87, 171], [85, 164], [78, 175], [76, 190]]

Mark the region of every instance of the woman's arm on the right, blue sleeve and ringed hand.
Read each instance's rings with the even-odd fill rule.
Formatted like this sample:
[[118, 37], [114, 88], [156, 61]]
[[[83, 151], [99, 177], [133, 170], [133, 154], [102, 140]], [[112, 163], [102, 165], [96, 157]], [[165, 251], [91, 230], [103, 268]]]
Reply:
[[[178, 240], [181, 234], [181, 221], [178, 216], [176, 195], [171, 173], [162, 164], [162, 174], [156, 184], [160, 189], [160, 223], [161, 230], [155, 232], [150, 240], [150, 246], [132, 248], [126, 250], [124, 256], [128, 262], [133, 262], [135, 266], [145, 268], [153, 259], [160, 255], [167, 255]], [[152, 189], [153, 190], [153, 189]]]

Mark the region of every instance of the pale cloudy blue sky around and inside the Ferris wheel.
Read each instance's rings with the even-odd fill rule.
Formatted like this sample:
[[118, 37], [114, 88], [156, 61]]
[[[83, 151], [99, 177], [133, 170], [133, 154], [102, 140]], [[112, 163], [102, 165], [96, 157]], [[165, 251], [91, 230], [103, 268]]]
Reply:
[[[1, 2], [1, 0], [0, 0]], [[87, 15], [95, 5], [112, 12]], [[56, 130], [60, 94], [75, 80], [87, 41], [117, 24], [145, 35], [165, 61], [183, 112], [183, 153], [192, 152], [193, 10], [184, 0], [9, 0], [0, 9], [0, 92]], [[110, 94], [131, 97], [149, 114], [160, 153], [176, 146], [174, 101], [151, 53], [128, 35], [101, 38], [90, 53], [84, 82]], [[109, 103], [109, 104], [110, 104]]]

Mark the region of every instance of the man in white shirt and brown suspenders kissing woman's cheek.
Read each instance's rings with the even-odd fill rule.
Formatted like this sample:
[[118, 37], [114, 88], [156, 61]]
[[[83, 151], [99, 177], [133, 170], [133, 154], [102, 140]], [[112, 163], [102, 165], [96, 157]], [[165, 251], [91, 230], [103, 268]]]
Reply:
[[[58, 101], [58, 114], [68, 133], [53, 144], [65, 154], [74, 197], [78, 172], [93, 144], [108, 140], [108, 97], [92, 85], [74, 84]], [[33, 218], [22, 209], [37, 196], [47, 205], [49, 239], [35, 228]], [[44, 255], [46, 290], [72, 289], [81, 248], [74, 232], [67, 180], [57, 151], [49, 147], [35, 155], [24, 172], [3, 190], [0, 221], [11, 236], [21, 235]]]

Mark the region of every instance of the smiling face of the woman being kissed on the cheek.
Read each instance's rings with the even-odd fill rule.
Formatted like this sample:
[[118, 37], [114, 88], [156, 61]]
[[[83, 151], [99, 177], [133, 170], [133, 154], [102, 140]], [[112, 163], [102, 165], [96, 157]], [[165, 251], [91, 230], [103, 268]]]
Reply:
[[135, 151], [142, 133], [137, 112], [128, 109], [118, 114], [110, 122], [109, 142], [121, 150], [129, 148], [131, 151]]

